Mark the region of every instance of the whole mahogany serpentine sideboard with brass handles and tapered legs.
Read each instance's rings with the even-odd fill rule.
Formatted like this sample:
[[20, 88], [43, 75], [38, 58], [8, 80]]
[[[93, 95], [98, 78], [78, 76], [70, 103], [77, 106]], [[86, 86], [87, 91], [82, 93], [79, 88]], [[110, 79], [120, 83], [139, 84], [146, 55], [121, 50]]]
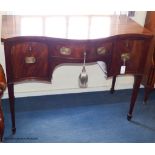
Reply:
[[63, 63], [83, 63], [84, 52], [86, 52], [86, 63], [105, 62], [108, 78], [114, 77], [115, 80], [120, 74], [134, 75], [127, 114], [127, 119], [131, 120], [152, 33], [127, 16], [106, 16], [106, 18], [110, 21], [109, 26], [106, 27], [106, 36], [103, 34], [103, 37], [98, 39], [21, 36], [10, 33], [9, 28], [5, 31], [2, 42], [5, 50], [13, 133], [16, 131], [14, 84], [27, 80], [50, 83], [56, 66]]

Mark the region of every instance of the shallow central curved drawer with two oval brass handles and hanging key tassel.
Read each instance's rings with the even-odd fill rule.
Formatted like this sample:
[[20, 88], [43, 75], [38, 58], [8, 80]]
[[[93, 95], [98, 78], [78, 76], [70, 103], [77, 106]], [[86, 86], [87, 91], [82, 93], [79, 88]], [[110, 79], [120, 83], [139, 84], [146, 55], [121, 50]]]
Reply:
[[83, 59], [86, 52], [86, 59], [104, 58], [112, 52], [112, 41], [58, 41], [51, 46], [51, 57], [66, 59]]

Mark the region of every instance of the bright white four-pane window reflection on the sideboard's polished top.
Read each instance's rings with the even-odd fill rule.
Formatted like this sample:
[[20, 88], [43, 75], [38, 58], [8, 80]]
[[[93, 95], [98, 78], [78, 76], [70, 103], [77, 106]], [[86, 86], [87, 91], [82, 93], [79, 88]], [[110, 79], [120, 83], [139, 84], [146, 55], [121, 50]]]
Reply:
[[[93, 39], [109, 35], [110, 18], [103, 15], [21, 16], [22, 36]], [[106, 31], [105, 31], [106, 30]]]

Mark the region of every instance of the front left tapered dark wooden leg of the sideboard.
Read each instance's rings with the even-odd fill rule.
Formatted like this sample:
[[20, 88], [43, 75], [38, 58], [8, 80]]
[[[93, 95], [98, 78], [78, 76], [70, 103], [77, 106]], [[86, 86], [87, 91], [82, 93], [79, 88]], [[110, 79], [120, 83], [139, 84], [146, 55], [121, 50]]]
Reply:
[[13, 84], [8, 84], [9, 102], [10, 102], [10, 112], [12, 121], [12, 133], [16, 133], [15, 125], [15, 98], [14, 98], [14, 87]]

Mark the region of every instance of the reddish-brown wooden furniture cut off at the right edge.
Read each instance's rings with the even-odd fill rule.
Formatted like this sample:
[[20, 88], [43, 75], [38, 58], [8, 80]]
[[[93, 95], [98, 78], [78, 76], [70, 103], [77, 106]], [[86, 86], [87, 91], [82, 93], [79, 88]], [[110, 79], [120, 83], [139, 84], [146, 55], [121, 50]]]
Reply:
[[144, 26], [154, 35], [142, 79], [142, 84], [145, 87], [144, 103], [146, 103], [155, 84], [155, 11], [147, 12]]

